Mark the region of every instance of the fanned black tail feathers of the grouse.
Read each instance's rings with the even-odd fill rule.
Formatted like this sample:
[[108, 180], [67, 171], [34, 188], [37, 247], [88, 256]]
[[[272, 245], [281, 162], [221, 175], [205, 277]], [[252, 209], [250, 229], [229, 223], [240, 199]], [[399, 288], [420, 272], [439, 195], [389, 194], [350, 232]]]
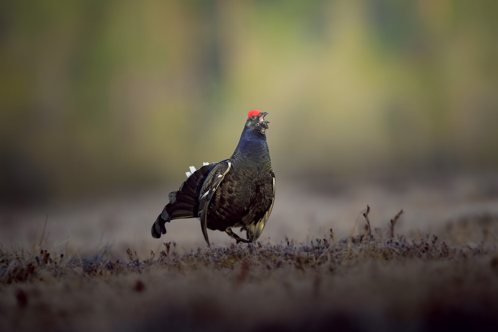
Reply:
[[214, 165], [216, 163], [207, 164], [192, 174], [187, 174], [188, 178], [181, 184], [180, 189], [169, 193], [169, 203], [152, 225], [152, 237], [159, 238], [161, 234], [166, 234], [164, 226], [166, 222], [173, 219], [198, 217], [199, 192], [206, 175]]

